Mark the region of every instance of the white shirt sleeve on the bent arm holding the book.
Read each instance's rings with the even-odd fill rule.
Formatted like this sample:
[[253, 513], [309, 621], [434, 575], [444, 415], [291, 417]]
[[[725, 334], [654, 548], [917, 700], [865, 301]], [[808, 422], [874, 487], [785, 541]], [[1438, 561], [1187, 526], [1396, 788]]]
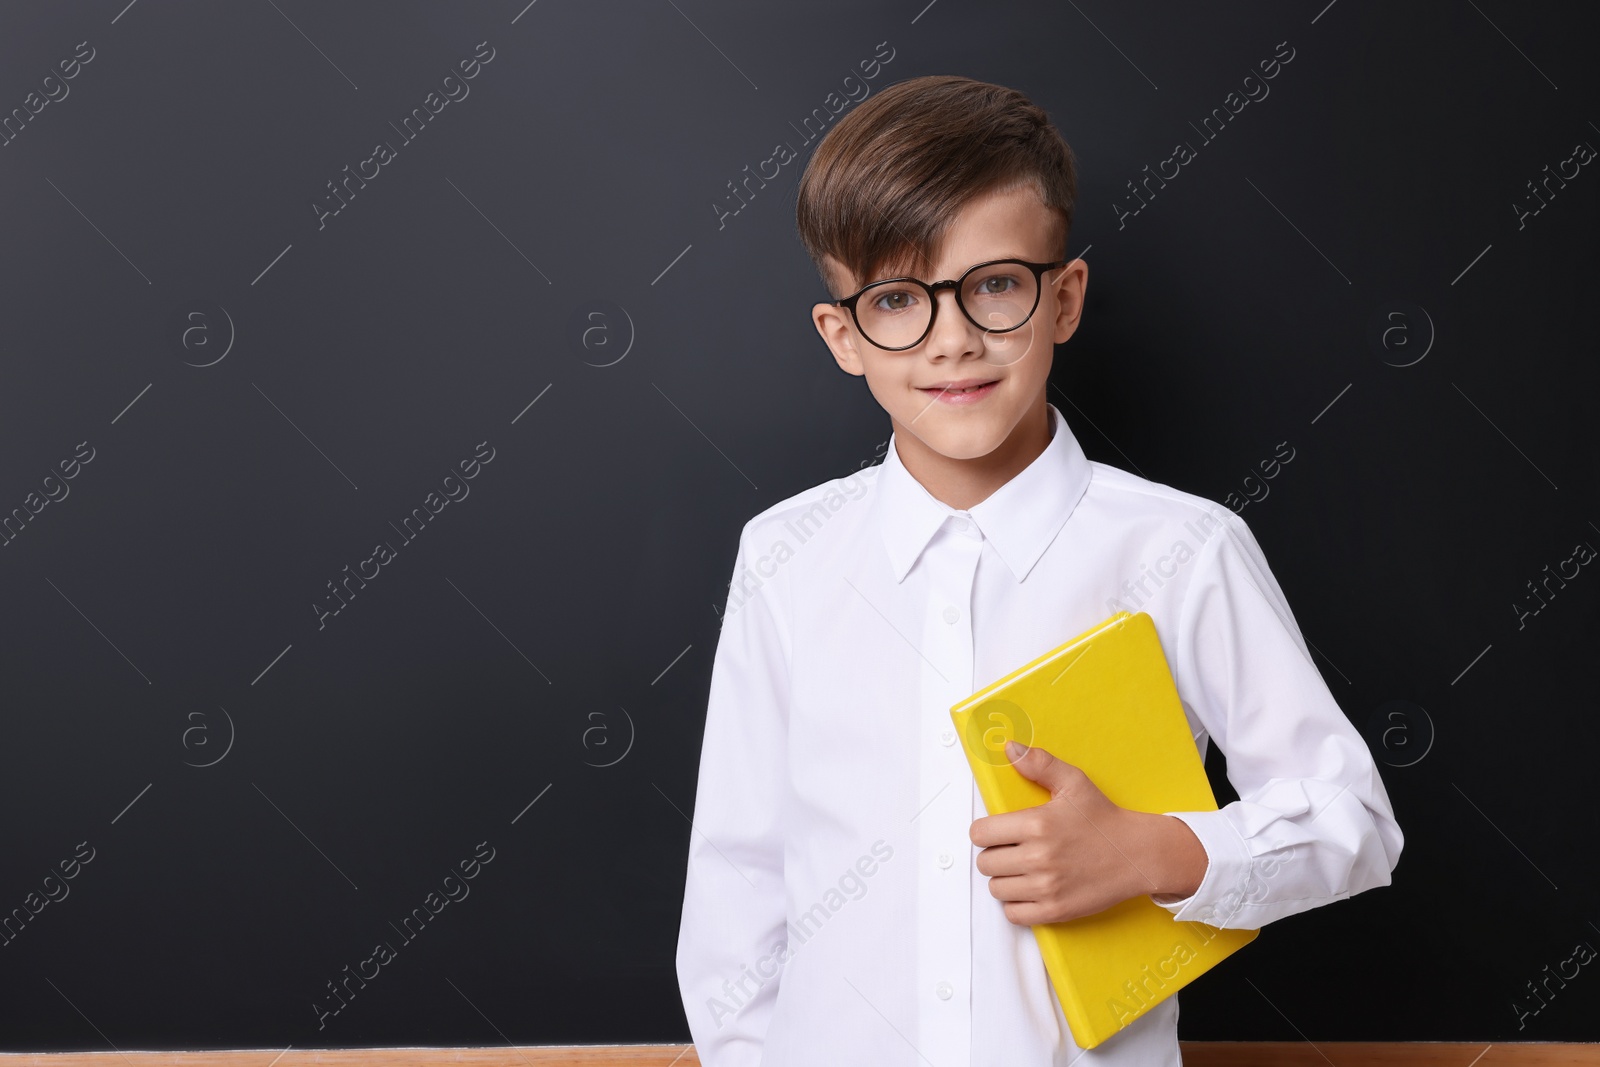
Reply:
[[1389, 793], [1245, 520], [1221, 514], [1190, 566], [1173, 665], [1238, 800], [1165, 813], [1208, 865], [1192, 896], [1157, 902], [1178, 921], [1254, 929], [1389, 885], [1405, 841]]

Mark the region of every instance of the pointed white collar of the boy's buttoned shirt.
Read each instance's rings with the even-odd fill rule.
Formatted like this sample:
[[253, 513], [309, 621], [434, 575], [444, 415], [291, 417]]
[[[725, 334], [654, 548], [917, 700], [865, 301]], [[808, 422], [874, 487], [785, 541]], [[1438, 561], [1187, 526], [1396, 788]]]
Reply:
[[1056, 405], [1045, 403], [1054, 426], [1050, 445], [1034, 462], [979, 504], [960, 512], [944, 504], [906, 470], [890, 434], [878, 470], [875, 520], [883, 533], [894, 581], [904, 581], [917, 557], [950, 517], [971, 518], [1016, 581], [1045, 553], [1090, 483], [1090, 461]]

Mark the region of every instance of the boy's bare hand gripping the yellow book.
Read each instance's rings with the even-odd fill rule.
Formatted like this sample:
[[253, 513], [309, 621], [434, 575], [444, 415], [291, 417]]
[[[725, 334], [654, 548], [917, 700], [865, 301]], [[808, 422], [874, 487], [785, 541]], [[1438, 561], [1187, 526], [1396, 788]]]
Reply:
[[[1021, 749], [1006, 744], [1008, 753]], [[1051, 798], [973, 822], [978, 870], [1008, 920], [1061, 923], [1141, 894], [1181, 901], [1200, 886], [1205, 846], [1181, 819], [1117, 806], [1088, 774], [1043, 749], [1011, 760]]]

